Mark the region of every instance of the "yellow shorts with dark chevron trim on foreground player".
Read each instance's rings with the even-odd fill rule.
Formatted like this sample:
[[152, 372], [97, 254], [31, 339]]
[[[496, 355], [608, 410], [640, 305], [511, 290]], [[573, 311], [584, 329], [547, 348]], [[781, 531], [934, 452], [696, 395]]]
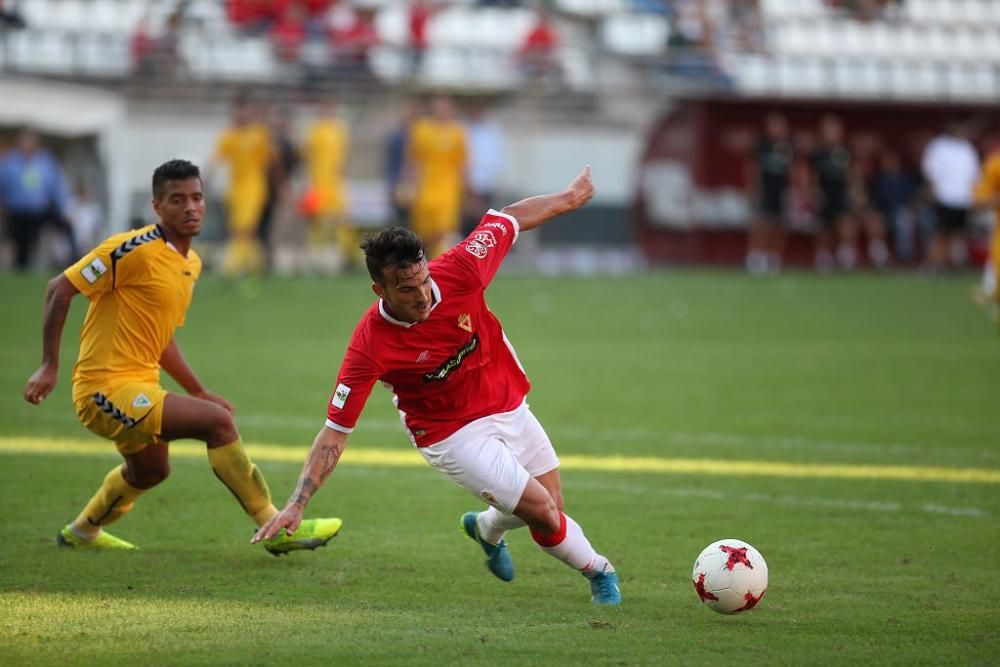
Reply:
[[91, 432], [114, 441], [119, 452], [134, 454], [161, 442], [166, 397], [167, 391], [157, 384], [130, 382], [77, 398], [76, 414]]

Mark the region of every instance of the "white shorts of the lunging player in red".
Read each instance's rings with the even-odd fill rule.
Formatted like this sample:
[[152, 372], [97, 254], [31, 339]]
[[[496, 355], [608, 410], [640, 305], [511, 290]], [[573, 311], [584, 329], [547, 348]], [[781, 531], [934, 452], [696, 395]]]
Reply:
[[527, 403], [470, 422], [419, 450], [434, 468], [504, 514], [514, 513], [529, 477], [559, 467], [552, 442]]

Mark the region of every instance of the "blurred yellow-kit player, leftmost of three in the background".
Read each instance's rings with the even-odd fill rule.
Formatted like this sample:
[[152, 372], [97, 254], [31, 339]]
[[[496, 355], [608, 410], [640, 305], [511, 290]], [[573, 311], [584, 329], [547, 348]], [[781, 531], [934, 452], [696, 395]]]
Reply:
[[253, 106], [236, 102], [233, 126], [225, 130], [215, 147], [213, 162], [229, 166], [226, 220], [229, 242], [223, 258], [228, 276], [255, 275], [264, 268], [264, 252], [257, 238], [267, 203], [268, 167], [273, 159], [271, 134]]

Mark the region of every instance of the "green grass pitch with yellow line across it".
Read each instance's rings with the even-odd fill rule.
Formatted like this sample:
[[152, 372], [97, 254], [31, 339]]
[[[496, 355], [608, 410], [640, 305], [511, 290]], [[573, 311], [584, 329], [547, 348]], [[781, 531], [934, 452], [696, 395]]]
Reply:
[[[345, 521], [328, 549], [249, 546], [193, 442], [115, 527], [141, 551], [56, 548], [115, 455], [69, 402], [84, 304], [30, 406], [44, 280], [2, 276], [0, 664], [997, 664], [1000, 337], [969, 282], [498, 278], [568, 510], [621, 575], [602, 609], [524, 531], [517, 579], [492, 579], [458, 532], [476, 503], [409, 450], [382, 389], [310, 506]], [[361, 278], [198, 286], [178, 339], [279, 503], [369, 298]], [[770, 566], [747, 615], [689, 582], [723, 537]]]

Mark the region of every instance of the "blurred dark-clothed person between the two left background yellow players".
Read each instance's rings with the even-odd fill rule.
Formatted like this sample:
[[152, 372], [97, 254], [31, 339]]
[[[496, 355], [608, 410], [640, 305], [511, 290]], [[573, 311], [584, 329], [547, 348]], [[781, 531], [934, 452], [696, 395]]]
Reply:
[[267, 200], [260, 214], [257, 238], [264, 247], [264, 265], [268, 269], [274, 266], [274, 228], [288, 222], [291, 180], [299, 166], [299, 151], [288, 125], [290, 116], [289, 109], [272, 108], [267, 119], [273, 158], [268, 165]]

